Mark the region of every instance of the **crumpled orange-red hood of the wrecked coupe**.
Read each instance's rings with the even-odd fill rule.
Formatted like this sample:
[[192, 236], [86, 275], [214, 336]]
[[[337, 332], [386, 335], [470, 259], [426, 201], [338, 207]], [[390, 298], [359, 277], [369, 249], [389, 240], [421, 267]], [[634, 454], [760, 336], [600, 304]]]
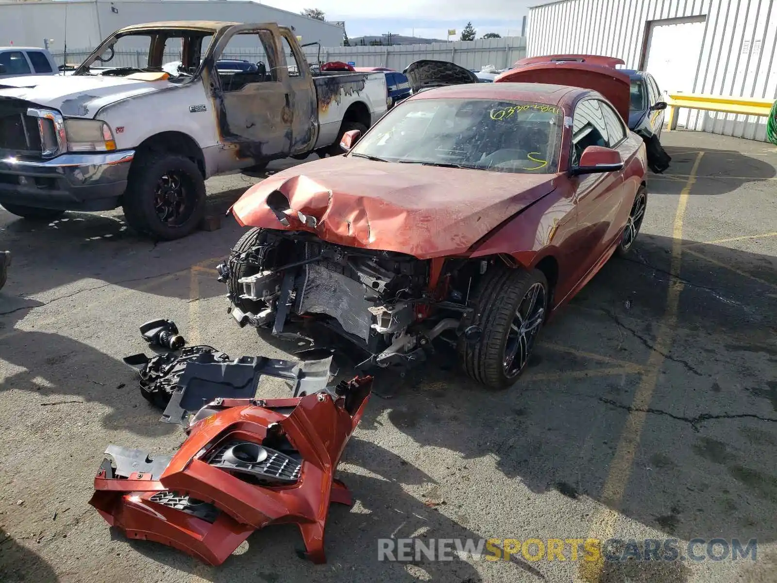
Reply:
[[336, 156], [270, 176], [232, 213], [242, 226], [314, 232], [329, 243], [430, 259], [467, 253], [552, 192], [558, 177]]

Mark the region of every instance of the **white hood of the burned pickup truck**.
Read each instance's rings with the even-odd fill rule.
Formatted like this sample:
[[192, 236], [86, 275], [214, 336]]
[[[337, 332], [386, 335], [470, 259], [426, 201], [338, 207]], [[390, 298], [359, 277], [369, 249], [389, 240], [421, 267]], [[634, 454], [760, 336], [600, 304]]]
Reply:
[[169, 81], [138, 81], [102, 75], [51, 75], [0, 79], [0, 99], [15, 97], [52, 107], [67, 117], [94, 117], [110, 103], [174, 86]]

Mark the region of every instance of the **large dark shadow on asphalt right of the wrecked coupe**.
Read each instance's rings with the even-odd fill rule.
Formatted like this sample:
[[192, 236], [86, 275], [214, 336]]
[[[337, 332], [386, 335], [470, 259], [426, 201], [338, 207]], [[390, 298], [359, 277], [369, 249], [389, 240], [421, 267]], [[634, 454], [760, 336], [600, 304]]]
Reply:
[[[660, 323], [669, 322], [667, 288], [680, 283], [671, 348], [620, 511], [682, 539], [774, 541], [777, 258], [687, 241], [695, 254], [673, 278], [672, 243], [643, 235], [631, 257], [608, 262], [545, 327], [513, 388], [483, 389], [465, 379], [455, 353], [439, 351], [416, 387], [392, 379], [392, 398], [374, 398], [362, 426], [375, 428], [387, 411], [424, 447], [492, 456], [535, 493], [602, 501]], [[333, 337], [314, 340], [348, 351]]]

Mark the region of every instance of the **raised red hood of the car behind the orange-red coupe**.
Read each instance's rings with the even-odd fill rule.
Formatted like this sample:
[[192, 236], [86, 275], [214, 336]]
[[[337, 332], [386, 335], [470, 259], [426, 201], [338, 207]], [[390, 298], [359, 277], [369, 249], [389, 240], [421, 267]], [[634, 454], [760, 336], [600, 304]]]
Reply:
[[521, 59], [494, 82], [552, 83], [598, 91], [628, 122], [631, 79], [615, 68], [623, 64], [622, 59], [596, 54], [551, 54]]

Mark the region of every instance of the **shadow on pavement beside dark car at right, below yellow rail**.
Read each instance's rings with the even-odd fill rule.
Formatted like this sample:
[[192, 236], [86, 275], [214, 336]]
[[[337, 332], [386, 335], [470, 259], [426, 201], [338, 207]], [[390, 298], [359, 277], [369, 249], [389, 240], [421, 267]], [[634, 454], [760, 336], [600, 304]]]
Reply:
[[777, 169], [747, 153], [735, 150], [713, 148], [688, 148], [686, 146], [664, 146], [671, 155], [671, 166], [664, 174], [651, 174], [647, 183], [660, 180], [661, 192], [679, 194], [688, 181], [699, 152], [702, 158], [696, 169], [696, 176], [704, 176], [704, 187], [691, 190], [691, 196], [709, 196], [727, 194], [737, 190], [745, 183], [768, 181], [777, 176]]

